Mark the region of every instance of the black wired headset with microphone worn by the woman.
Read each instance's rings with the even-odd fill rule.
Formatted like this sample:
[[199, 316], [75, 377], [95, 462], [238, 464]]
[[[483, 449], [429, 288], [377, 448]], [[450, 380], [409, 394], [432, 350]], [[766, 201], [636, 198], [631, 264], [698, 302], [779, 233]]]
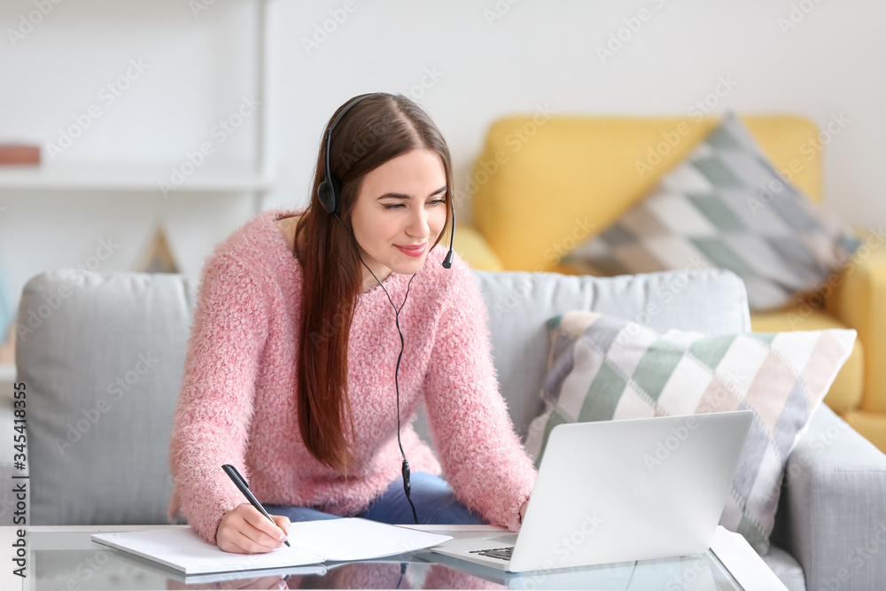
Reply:
[[[362, 101], [366, 100], [369, 97], [380, 97], [383, 96], [384, 93], [381, 92], [373, 92], [367, 95], [363, 95], [362, 97], [354, 98], [351, 102], [349, 102], [345, 107], [341, 110], [341, 113], [338, 113], [338, 117], [336, 117], [330, 123], [329, 129], [326, 131], [326, 141], [325, 146], [323, 148], [323, 155], [325, 159], [324, 168], [323, 168], [323, 182], [320, 183], [320, 186], [317, 187], [317, 198], [320, 200], [320, 205], [323, 206], [323, 210], [327, 214], [334, 215], [338, 220], [338, 223], [341, 224], [342, 228], [345, 229], [348, 237], [351, 238], [351, 242], [354, 243], [354, 248], [357, 251], [357, 256], [360, 257], [360, 262], [363, 263], [363, 267], [369, 271], [369, 274], [375, 277], [376, 281], [381, 288], [385, 290], [385, 285], [382, 282], [378, 281], [378, 277], [375, 273], [372, 272], [372, 269], [363, 261], [363, 257], [360, 254], [360, 248], [357, 246], [357, 241], [354, 239], [354, 236], [351, 232], [348, 231], [345, 222], [341, 221], [341, 218], [338, 214], [341, 213], [341, 201], [338, 198], [338, 194], [341, 191], [341, 183], [338, 182], [338, 178], [332, 174], [332, 167], [330, 166], [330, 148], [332, 146], [332, 129], [338, 125], [338, 121], [341, 121], [341, 118], [345, 116], [345, 113], [354, 108], [355, 105], [358, 105]], [[450, 268], [452, 267], [452, 259], [453, 259], [453, 240], [455, 239], [455, 204], [453, 201], [455, 199], [452, 198], [452, 189], [450, 188], [447, 191], [450, 195], [449, 198], [449, 207], [452, 212], [452, 220], [451, 229], [449, 234], [449, 252], [446, 255], [446, 259], [443, 261], [443, 267]], [[403, 309], [403, 306], [406, 305], [406, 299], [409, 295], [409, 286], [412, 285], [412, 280], [416, 278], [414, 274], [409, 279], [409, 284], [406, 287], [406, 294], [403, 296], [403, 303], [400, 304], [398, 308], [394, 305], [393, 300], [391, 299], [391, 294], [385, 290], [385, 295], [387, 295], [388, 301], [391, 302], [391, 306], [394, 309], [394, 313], [396, 315], [396, 323], [397, 323], [397, 331], [400, 333], [400, 355], [397, 357], [397, 369], [394, 370], [394, 385], [397, 389], [397, 445], [400, 446], [400, 455], [403, 456], [403, 466], [401, 468], [401, 473], [403, 475], [403, 492], [406, 493], [406, 500], [409, 502], [409, 506], [412, 508], [412, 517], [416, 520], [416, 525], [418, 524], [418, 516], [416, 514], [416, 506], [413, 504], [412, 499], [409, 498], [409, 494], [412, 491], [412, 486], [409, 482], [409, 463], [406, 460], [406, 453], [403, 451], [403, 443], [400, 441], [400, 383], [398, 381], [398, 376], [400, 374], [400, 359], [403, 357], [403, 349], [404, 349], [404, 341], [403, 341], [403, 332], [400, 330], [400, 310]]]

